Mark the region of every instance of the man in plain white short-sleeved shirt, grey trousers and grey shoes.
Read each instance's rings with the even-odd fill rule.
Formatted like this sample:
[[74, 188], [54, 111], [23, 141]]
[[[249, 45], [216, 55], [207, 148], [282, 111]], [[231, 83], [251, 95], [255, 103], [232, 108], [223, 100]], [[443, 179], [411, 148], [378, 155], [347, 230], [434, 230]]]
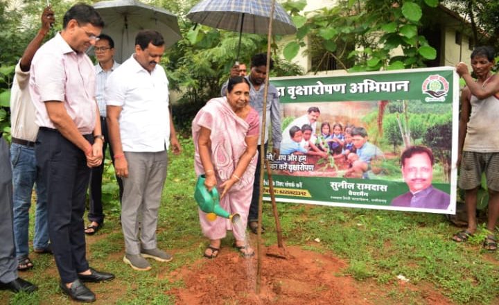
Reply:
[[171, 143], [173, 153], [181, 150], [168, 110], [168, 78], [159, 66], [164, 49], [160, 33], [141, 30], [135, 37], [135, 53], [112, 73], [106, 85], [114, 168], [123, 179], [123, 261], [139, 271], [151, 268], [144, 258], [173, 259], [158, 249], [156, 241], [167, 149]]

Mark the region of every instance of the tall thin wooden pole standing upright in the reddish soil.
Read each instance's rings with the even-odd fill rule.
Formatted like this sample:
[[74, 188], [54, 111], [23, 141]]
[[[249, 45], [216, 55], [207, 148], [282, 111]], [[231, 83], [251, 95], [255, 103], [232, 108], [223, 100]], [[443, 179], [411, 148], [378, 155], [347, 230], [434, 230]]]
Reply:
[[275, 0], [272, 0], [272, 8], [270, 9], [269, 16], [269, 27], [267, 36], [267, 67], [265, 74], [265, 90], [263, 90], [263, 110], [262, 110], [262, 125], [260, 126], [260, 193], [259, 193], [259, 227], [258, 234], [256, 234], [256, 250], [258, 252], [258, 260], [256, 263], [256, 294], [260, 294], [260, 284], [261, 284], [261, 258], [262, 258], [262, 246], [261, 246], [261, 223], [262, 223], [262, 206], [263, 206], [263, 167], [265, 166], [265, 121], [267, 118], [267, 94], [269, 85], [269, 72], [270, 72], [270, 45], [272, 44], [272, 21], [274, 19], [275, 10]]

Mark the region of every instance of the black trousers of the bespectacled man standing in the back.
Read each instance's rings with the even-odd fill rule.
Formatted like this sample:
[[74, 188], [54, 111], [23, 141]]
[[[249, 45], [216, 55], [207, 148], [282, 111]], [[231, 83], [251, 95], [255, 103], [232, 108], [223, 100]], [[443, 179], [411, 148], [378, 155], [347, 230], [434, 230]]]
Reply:
[[[109, 143], [109, 132], [107, 131], [107, 123], [104, 116], [100, 116], [100, 128], [102, 129], [102, 134], [105, 138], [103, 145], [103, 155], [105, 156], [105, 151], [107, 148], [107, 144]], [[111, 145], [110, 155], [111, 160], [114, 164], [114, 153], [112, 151]], [[95, 221], [96, 223], [102, 224], [104, 223], [104, 213], [103, 213], [103, 202], [102, 202], [102, 176], [104, 173], [104, 162], [100, 164], [100, 166], [94, 167], [91, 169], [90, 174], [90, 204], [89, 204], [89, 213], [88, 218], [89, 221]], [[116, 177], [116, 181], [119, 186], [119, 198], [121, 202], [121, 198], [123, 197], [123, 182], [120, 177]]]

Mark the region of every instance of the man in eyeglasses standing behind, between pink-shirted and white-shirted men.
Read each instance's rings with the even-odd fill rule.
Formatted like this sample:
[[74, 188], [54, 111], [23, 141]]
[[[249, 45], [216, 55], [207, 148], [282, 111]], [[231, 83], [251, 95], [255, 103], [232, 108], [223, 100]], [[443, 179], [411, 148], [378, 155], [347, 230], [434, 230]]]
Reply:
[[[97, 40], [94, 46], [95, 55], [97, 58], [97, 64], [95, 65], [96, 73], [96, 100], [98, 105], [98, 110], [100, 113], [100, 129], [104, 139], [110, 139], [107, 135], [107, 123], [106, 123], [106, 103], [105, 103], [105, 84], [107, 81], [107, 76], [119, 67], [119, 63], [114, 60], [114, 41], [109, 35], [100, 34], [99, 40]], [[103, 159], [105, 159], [105, 150], [107, 148], [107, 143], [103, 144]], [[112, 148], [110, 146], [110, 155], [113, 158]], [[90, 189], [89, 189], [89, 213], [88, 219], [90, 224], [85, 227], [85, 234], [94, 235], [100, 227], [104, 224], [104, 213], [103, 213], [103, 202], [102, 202], [102, 176], [104, 171], [104, 162], [100, 166], [92, 168], [90, 174]], [[120, 200], [121, 194], [123, 193], [123, 184], [121, 178], [116, 177], [118, 180], [118, 185], [120, 189]]]

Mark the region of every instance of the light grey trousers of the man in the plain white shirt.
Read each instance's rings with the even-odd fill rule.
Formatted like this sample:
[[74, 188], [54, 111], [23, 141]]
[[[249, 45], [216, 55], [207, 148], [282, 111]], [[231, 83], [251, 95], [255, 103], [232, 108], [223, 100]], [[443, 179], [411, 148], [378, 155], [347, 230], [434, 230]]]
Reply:
[[[121, 227], [125, 252], [140, 254], [141, 249], [154, 249], [161, 192], [166, 180], [168, 153], [125, 152], [128, 177], [123, 178]], [[139, 236], [140, 231], [140, 236]]]

